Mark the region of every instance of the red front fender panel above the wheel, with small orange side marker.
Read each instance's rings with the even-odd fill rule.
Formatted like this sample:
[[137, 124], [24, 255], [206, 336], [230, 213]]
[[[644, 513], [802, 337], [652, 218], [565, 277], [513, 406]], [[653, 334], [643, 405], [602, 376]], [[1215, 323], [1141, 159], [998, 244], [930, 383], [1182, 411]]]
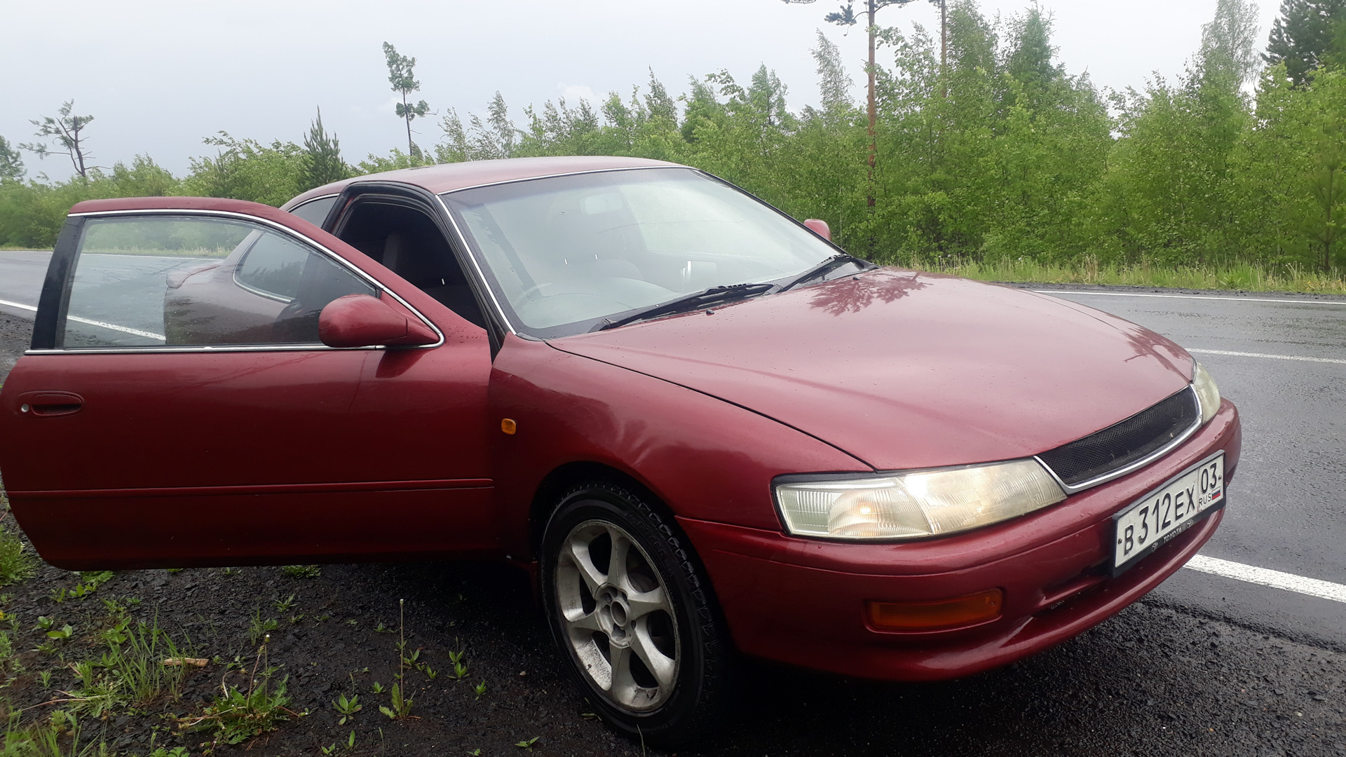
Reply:
[[771, 480], [801, 471], [871, 471], [855, 457], [717, 397], [509, 335], [491, 369], [493, 478], [501, 541], [529, 547], [533, 497], [575, 462], [639, 481], [674, 515], [779, 529]]

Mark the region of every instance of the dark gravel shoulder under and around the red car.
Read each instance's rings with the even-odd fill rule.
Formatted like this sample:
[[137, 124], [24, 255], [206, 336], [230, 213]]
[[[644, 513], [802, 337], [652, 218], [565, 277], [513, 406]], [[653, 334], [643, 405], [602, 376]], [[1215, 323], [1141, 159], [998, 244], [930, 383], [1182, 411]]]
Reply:
[[[23, 327], [0, 317], [0, 366], [26, 343], [22, 333], [8, 335]], [[27, 709], [23, 723], [46, 722], [51, 710], [69, 706], [48, 702], [75, 687], [67, 663], [106, 649], [105, 601], [157, 622], [187, 656], [211, 660], [188, 675], [176, 702], [85, 718], [83, 744], [105, 741], [110, 753], [184, 746], [201, 754], [210, 734], [180, 733], [174, 715], [202, 713], [222, 680], [245, 686], [240, 671], [250, 671], [257, 655], [250, 629], [273, 620], [267, 655], [277, 667], [273, 682], [288, 676], [296, 715], [218, 754], [320, 754], [324, 748], [377, 756], [478, 749], [483, 756], [665, 754], [618, 738], [586, 715], [530, 586], [506, 566], [342, 564], [322, 566], [311, 578], [277, 567], [124, 571], [82, 598], [70, 597], [79, 583], [79, 574], [43, 564], [34, 578], [0, 589], [0, 610], [16, 624], [24, 668], [3, 684], [0, 699]], [[61, 590], [66, 597], [57, 601]], [[398, 599], [405, 599], [408, 651], [420, 649], [419, 661], [436, 676], [405, 673], [413, 717], [394, 721], [378, 709], [390, 706], [389, 694], [371, 690], [376, 682], [389, 687], [397, 672]], [[48, 640], [39, 617], [58, 629], [70, 624], [71, 637]], [[48, 651], [36, 652], [43, 644]], [[463, 652], [463, 680], [452, 676], [451, 652]], [[730, 726], [676, 754], [1346, 756], [1346, 655], [1152, 602], [1055, 649], [964, 680], [886, 684], [752, 661], [743, 663], [740, 680]], [[478, 696], [479, 682], [486, 688]], [[342, 694], [358, 694], [362, 706], [345, 725], [334, 707]], [[534, 737], [530, 748], [517, 746]]]

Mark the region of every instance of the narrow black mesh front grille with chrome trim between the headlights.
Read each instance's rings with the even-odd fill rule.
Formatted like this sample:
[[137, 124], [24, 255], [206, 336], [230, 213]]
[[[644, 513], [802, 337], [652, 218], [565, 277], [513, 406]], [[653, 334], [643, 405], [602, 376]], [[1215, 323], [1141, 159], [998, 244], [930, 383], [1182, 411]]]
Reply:
[[1199, 416], [1197, 393], [1187, 388], [1097, 434], [1042, 453], [1038, 459], [1067, 486], [1074, 486], [1163, 449], [1191, 428]]

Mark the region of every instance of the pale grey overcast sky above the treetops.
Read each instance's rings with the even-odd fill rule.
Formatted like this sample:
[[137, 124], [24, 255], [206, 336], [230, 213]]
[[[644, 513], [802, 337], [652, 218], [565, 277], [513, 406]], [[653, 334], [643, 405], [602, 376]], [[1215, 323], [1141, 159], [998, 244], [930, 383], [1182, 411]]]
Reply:
[[[1022, 12], [1027, 0], [981, 0], [988, 16]], [[728, 69], [747, 81], [762, 63], [789, 86], [798, 109], [817, 101], [809, 48], [821, 28], [841, 46], [863, 82], [864, 35], [825, 24], [836, 0], [232, 0], [230, 3], [74, 0], [59, 8], [7, 0], [0, 46], [0, 135], [30, 141], [30, 119], [55, 114], [74, 98], [93, 114], [97, 164], [148, 154], [183, 174], [217, 131], [237, 137], [300, 141], [322, 106], [323, 123], [357, 162], [405, 150], [393, 114], [381, 43], [416, 57], [420, 97], [443, 113], [483, 113], [499, 90], [516, 120], [522, 108], [565, 96], [602, 100], [630, 93], [649, 69], [670, 93], [688, 75]], [[1261, 38], [1279, 3], [1260, 0]], [[1042, 0], [1055, 18], [1055, 44], [1071, 74], [1097, 85], [1143, 86], [1152, 71], [1172, 77], [1201, 42], [1215, 0]], [[938, 9], [917, 0], [880, 12], [880, 26], [938, 26]], [[880, 58], [882, 62], [882, 58]], [[860, 89], [856, 89], [860, 96]], [[595, 102], [596, 105], [598, 102]], [[417, 143], [439, 140], [436, 119], [417, 121]], [[65, 156], [24, 155], [30, 175], [70, 175]]]

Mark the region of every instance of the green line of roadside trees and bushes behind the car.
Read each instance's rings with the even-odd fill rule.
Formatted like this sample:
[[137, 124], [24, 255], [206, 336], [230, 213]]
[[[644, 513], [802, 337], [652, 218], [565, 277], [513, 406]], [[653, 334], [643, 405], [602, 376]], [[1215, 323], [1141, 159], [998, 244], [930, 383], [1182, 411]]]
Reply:
[[[826, 20], [902, 4], [865, 3], [859, 16], [844, 5]], [[631, 155], [696, 166], [795, 217], [824, 218], [844, 246], [880, 263], [1346, 265], [1346, 0], [1283, 0], [1268, 38], [1250, 0], [1219, 0], [1179, 77], [1121, 92], [1070, 74], [1036, 7], [992, 19], [976, 0], [950, 0], [933, 32], [867, 31], [878, 53], [863, 71], [874, 78], [864, 102], [818, 32], [818, 106], [790, 109], [766, 66], [746, 81], [692, 77], [680, 94], [651, 73], [627, 96], [525, 108], [522, 123], [497, 93], [485, 116], [439, 114], [431, 147], [412, 133], [413, 119], [431, 114], [409, 100], [416, 59], [385, 43], [406, 150], [354, 166], [320, 113], [300, 141], [207, 137], [215, 154], [194, 158], [182, 178], [137, 156], [69, 182], [24, 180], [22, 155], [0, 137], [0, 244], [50, 245], [70, 205], [90, 197], [279, 205], [349, 175], [427, 163]], [[34, 121], [58, 148], [48, 155], [73, 152], [61, 141], [71, 117], [67, 104]]]

